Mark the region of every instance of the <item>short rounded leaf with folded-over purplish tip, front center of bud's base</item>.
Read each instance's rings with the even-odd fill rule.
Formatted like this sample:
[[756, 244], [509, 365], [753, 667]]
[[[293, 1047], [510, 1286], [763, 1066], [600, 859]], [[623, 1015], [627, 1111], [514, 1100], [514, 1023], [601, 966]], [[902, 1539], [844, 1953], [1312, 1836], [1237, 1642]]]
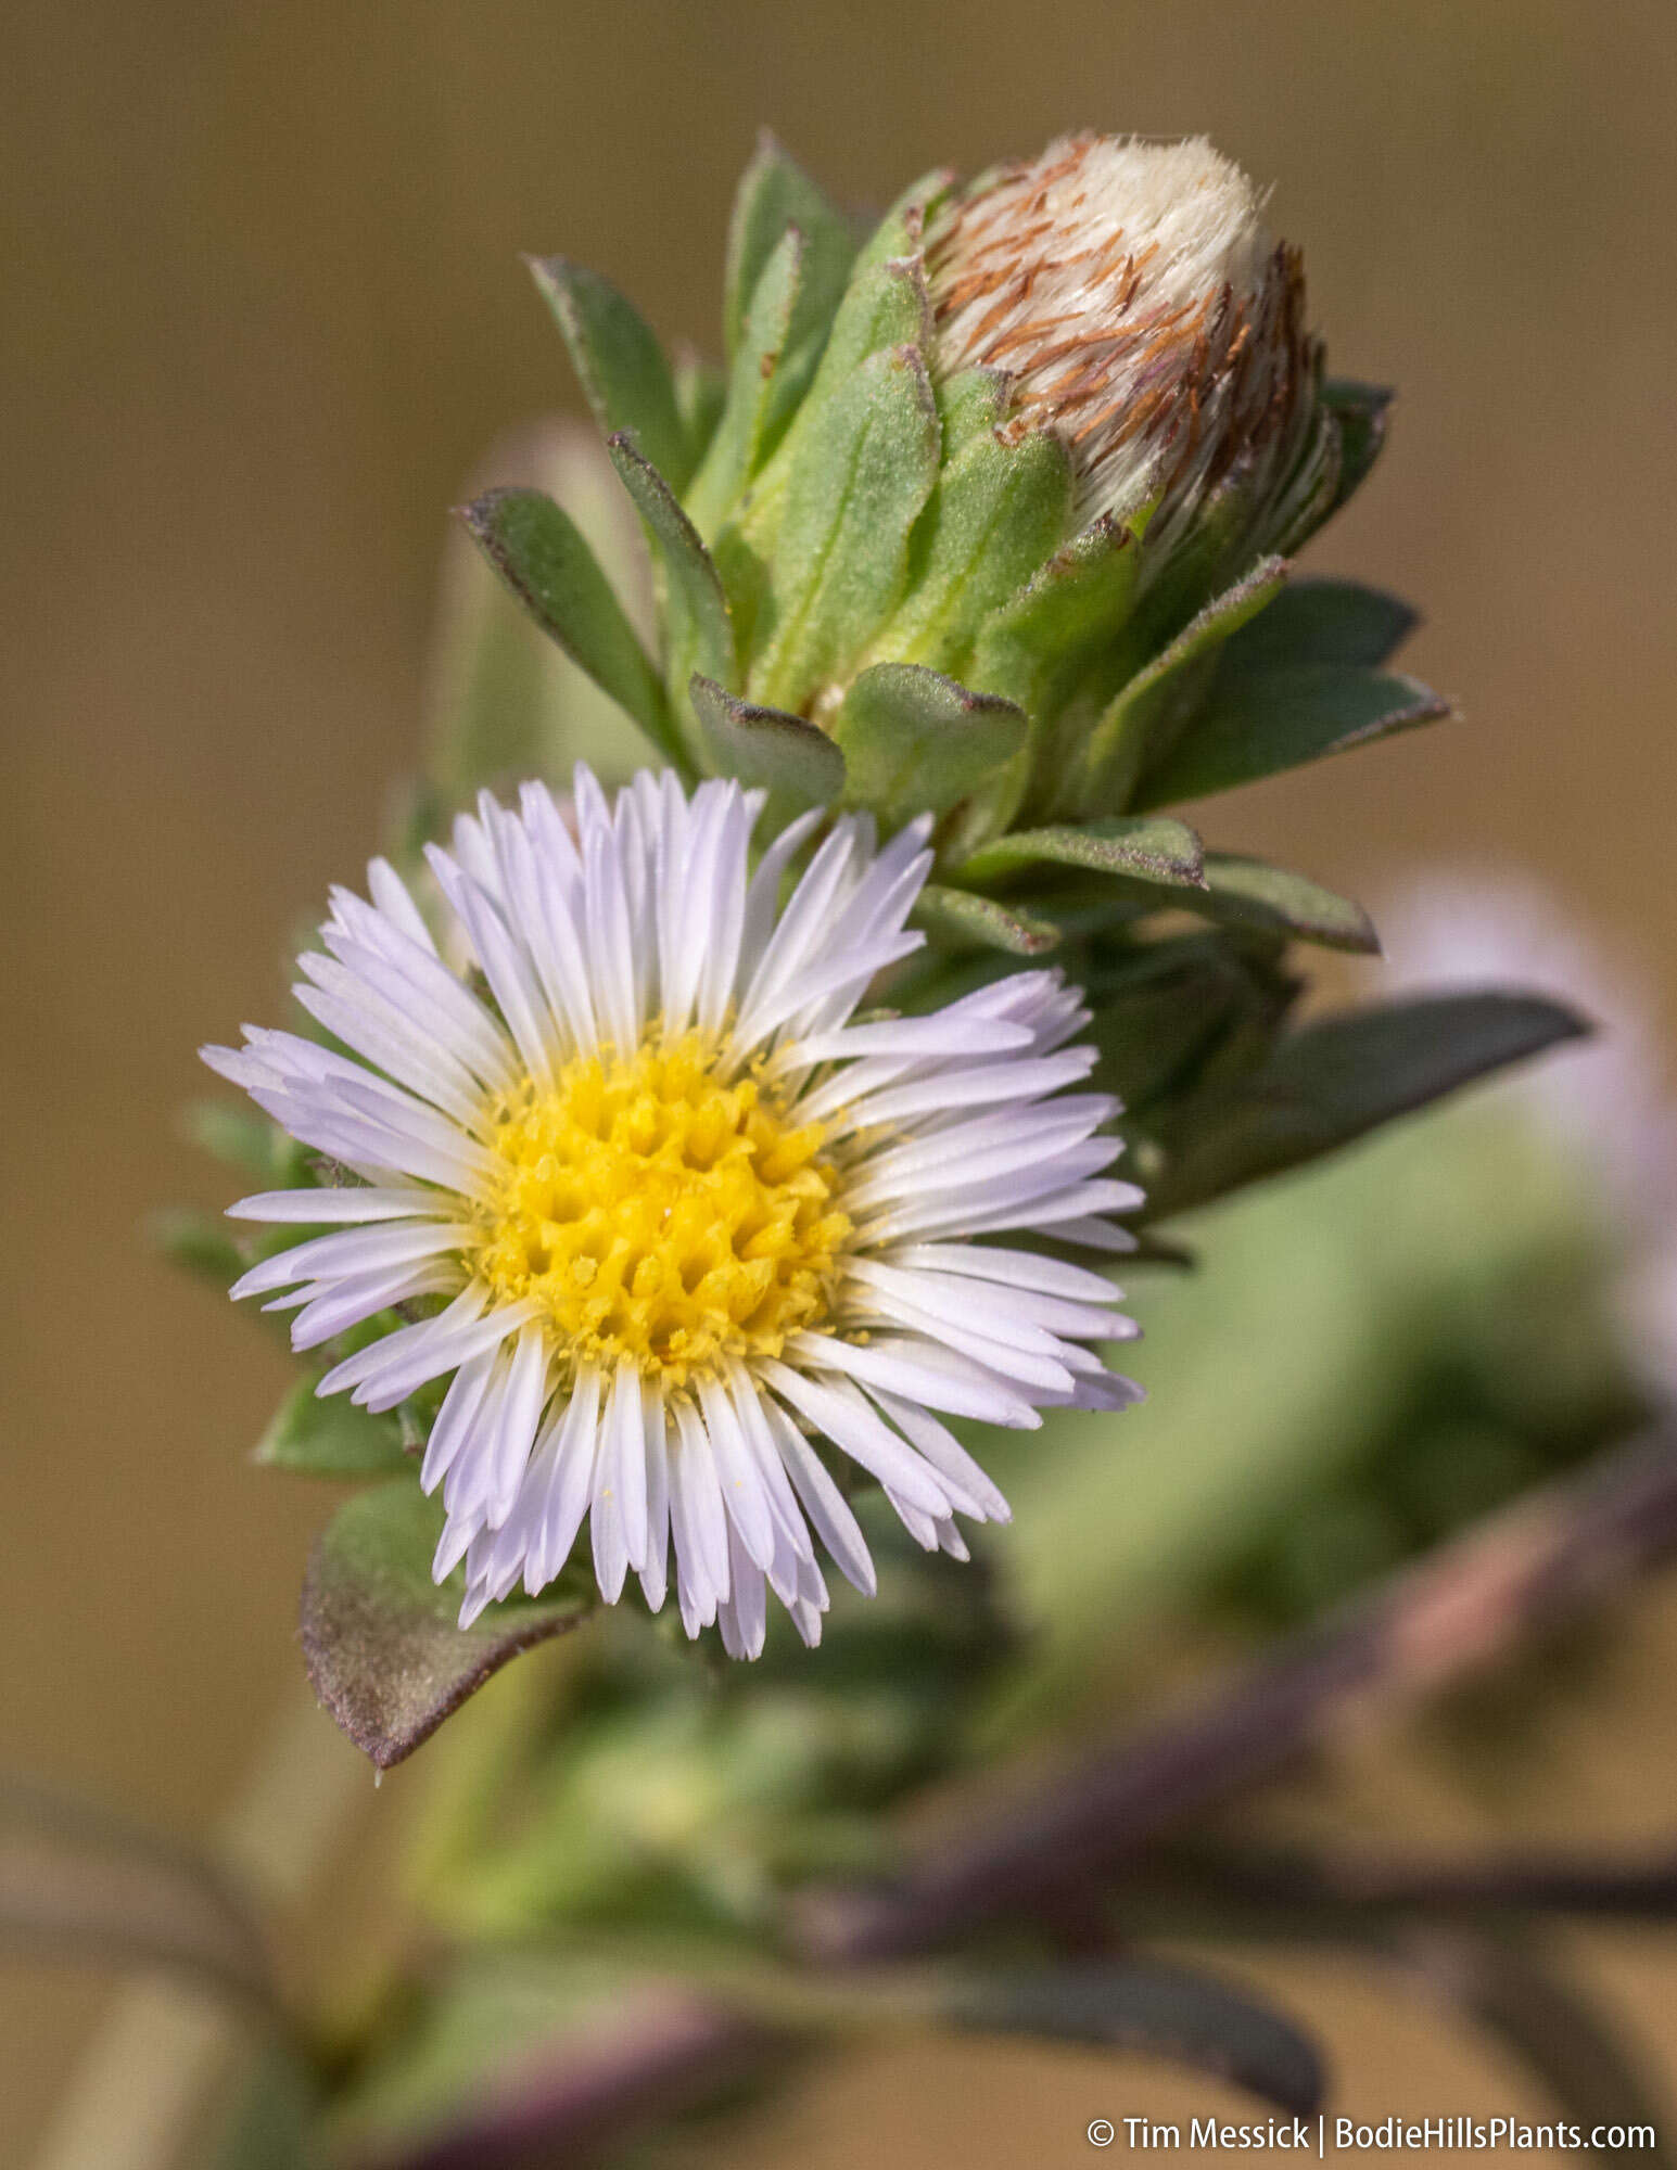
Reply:
[[832, 736], [845, 796], [897, 827], [947, 814], [1023, 753], [1030, 723], [1012, 701], [969, 692], [921, 664], [873, 664], [854, 679]]

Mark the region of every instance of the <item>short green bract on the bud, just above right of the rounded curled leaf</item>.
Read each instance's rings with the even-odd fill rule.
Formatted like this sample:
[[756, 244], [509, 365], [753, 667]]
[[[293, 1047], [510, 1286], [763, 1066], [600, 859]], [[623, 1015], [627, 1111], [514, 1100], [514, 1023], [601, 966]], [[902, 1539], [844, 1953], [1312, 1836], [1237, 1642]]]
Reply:
[[1064, 542], [978, 631], [967, 677], [1030, 716], [1054, 714], [1121, 631], [1136, 592], [1140, 545], [1101, 514]]

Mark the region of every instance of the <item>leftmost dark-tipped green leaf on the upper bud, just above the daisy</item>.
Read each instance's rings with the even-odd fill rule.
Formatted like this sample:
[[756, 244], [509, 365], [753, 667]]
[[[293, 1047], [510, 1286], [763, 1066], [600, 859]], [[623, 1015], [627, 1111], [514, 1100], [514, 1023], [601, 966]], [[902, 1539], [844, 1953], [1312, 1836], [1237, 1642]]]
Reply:
[[686, 766], [658, 673], [569, 512], [541, 490], [487, 490], [461, 519], [537, 625]]

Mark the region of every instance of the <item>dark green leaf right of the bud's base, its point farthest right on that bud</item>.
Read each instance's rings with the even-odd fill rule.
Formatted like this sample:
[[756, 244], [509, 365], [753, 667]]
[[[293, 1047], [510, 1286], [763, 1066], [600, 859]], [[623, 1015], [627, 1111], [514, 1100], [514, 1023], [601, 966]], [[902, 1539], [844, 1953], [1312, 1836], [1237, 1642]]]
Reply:
[[1295, 664], [1227, 684], [1219, 677], [1206, 710], [1140, 779], [1134, 803], [1203, 799], [1449, 714], [1449, 701], [1392, 671]]

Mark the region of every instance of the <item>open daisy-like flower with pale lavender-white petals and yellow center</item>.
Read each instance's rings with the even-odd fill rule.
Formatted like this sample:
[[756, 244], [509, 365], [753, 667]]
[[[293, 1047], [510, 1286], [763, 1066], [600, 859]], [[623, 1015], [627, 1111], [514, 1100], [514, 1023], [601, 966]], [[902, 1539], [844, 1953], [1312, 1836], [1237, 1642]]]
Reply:
[[517, 814], [484, 794], [428, 853], [469, 974], [382, 859], [371, 903], [332, 894], [295, 992], [352, 1055], [254, 1026], [204, 1050], [358, 1178], [232, 1207], [343, 1224], [232, 1293], [295, 1309], [298, 1350], [419, 1300], [319, 1393], [387, 1410], [452, 1374], [421, 1484], [463, 1625], [552, 1582], [587, 1519], [608, 1601], [634, 1571], [658, 1610], [673, 1541], [689, 1634], [756, 1656], [771, 1588], [815, 1643], [815, 1536], [860, 1591], [873, 1562], [812, 1439], [964, 1558], [956, 1517], [1008, 1508], [945, 1415], [1140, 1397], [1095, 1354], [1134, 1335], [1119, 1291], [1019, 1248], [1132, 1246], [1117, 1102], [1067, 1092], [1095, 1050], [1054, 972], [852, 1022], [921, 942], [928, 822], [875, 848], [834, 820], [782, 911], [819, 814], [752, 872], [760, 794], [736, 783], [643, 773], [608, 805], [580, 768], [573, 812], [576, 840], [543, 786]]

